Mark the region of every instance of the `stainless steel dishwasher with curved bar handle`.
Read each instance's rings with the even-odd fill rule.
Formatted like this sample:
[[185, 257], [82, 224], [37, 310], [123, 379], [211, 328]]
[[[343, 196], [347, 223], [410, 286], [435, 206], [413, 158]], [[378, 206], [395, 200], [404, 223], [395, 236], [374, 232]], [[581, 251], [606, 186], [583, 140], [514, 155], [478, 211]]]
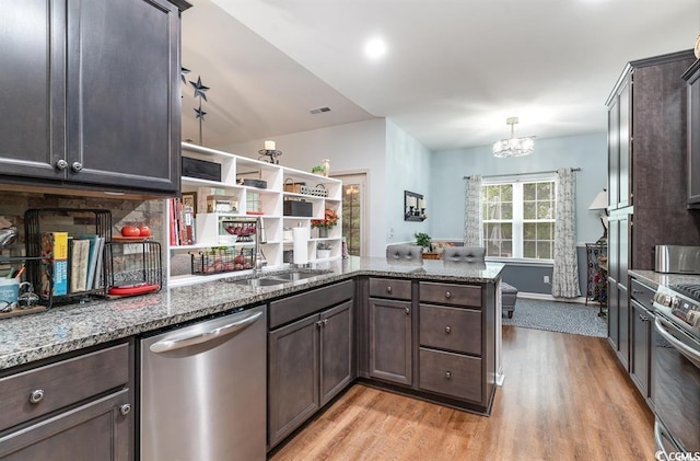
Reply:
[[141, 461], [266, 456], [266, 308], [141, 339]]

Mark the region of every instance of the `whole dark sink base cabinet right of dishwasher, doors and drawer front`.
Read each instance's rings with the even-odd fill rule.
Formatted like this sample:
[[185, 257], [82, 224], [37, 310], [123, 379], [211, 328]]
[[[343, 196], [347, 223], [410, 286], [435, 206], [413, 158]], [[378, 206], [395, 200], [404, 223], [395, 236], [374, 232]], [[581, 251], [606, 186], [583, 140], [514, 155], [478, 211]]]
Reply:
[[268, 449], [354, 379], [353, 291], [350, 280], [270, 303]]

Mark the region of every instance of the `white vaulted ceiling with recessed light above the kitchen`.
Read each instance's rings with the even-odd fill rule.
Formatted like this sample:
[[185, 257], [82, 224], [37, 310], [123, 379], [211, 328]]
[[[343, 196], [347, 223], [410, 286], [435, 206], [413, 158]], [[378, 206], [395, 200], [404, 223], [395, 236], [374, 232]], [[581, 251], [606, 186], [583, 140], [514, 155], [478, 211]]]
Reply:
[[[432, 151], [603, 132], [625, 64], [692, 48], [700, 0], [190, 0], [201, 143], [387, 117]], [[381, 36], [383, 59], [363, 55]], [[183, 139], [199, 143], [189, 83]], [[330, 107], [313, 115], [310, 110]], [[261, 148], [262, 146], [260, 146]]]

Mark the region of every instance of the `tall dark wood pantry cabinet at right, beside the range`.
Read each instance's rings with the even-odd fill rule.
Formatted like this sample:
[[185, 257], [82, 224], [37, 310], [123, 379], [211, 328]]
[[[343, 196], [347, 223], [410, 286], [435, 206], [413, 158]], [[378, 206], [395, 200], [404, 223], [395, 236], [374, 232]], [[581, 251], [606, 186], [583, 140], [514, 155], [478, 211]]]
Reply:
[[687, 90], [679, 51], [629, 62], [608, 107], [609, 341], [630, 359], [628, 269], [653, 269], [654, 246], [700, 245], [687, 201]]

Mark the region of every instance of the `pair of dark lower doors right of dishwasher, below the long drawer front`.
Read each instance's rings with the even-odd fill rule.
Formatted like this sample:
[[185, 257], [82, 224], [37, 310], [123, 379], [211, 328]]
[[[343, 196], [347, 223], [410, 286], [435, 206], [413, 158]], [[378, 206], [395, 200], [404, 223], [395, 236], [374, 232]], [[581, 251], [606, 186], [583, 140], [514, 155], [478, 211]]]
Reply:
[[349, 300], [268, 335], [268, 446], [275, 447], [353, 379]]

